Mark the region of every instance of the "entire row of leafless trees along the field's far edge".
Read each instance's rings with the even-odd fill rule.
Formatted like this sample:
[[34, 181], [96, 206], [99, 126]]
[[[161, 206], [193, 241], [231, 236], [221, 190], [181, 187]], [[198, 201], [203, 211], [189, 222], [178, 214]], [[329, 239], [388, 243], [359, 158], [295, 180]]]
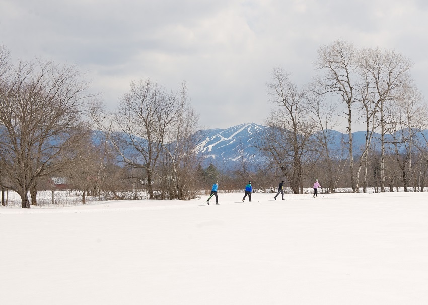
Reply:
[[[230, 190], [249, 179], [260, 190], [286, 179], [291, 192], [303, 193], [317, 177], [329, 192], [397, 185], [423, 191], [428, 116], [411, 61], [393, 50], [337, 40], [319, 48], [315, 67], [317, 75], [302, 87], [273, 69], [267, 94], [278, 107], [252, 143], [262, 161], [243, 154], [234, 168], [219, 170], [202, 168], [203, 155], [195, 150], [205, 135], [185, 82], [168, 90], [150, 78], [132, 81], [109, 111], [76, 66], [41, 59], [12, 64], [0, 46], [2, 202], [4, 189], [11, 189], [23, 208], [37, 204], [37, 191], [49, 189], [52, 176], [67, 177], [83, 202], [101, 194], [187, 200], [219, 178]], [[348, 137], [331, 149], [340, 118]], [[366, 127], [358, 151], [353, 122]]]

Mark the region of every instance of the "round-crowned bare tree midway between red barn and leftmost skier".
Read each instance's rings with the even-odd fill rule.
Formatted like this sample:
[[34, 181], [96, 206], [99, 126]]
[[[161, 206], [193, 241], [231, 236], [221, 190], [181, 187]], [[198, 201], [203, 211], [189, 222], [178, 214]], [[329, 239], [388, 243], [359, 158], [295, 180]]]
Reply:
[[[167, 92], [148, 78], [132, 82], [130, 92], [119, 100], [118, 110], [114, 113], [114, 124], [119, 132], [110, 140], [127, 166], [144, 169], [145, 177], [139, 177], [139, 181], [144, 181], [150, 199], [154, 199], [153, 183], [161, 176], [160, 158], [165, 152], [171, 153], [165, 148], [171, 144], [169, 140], [171, 134], [175, 134], [178, 122], [183, 129], [180, 139], [184, 139], [189, 136], [184, 134], [185, 129], [190, 132], [197, 121], [196, 115], [186, 107], [185, 98], [178, 98], [176, 92]], [[175, 137], [175, 140], [179, 139]]]

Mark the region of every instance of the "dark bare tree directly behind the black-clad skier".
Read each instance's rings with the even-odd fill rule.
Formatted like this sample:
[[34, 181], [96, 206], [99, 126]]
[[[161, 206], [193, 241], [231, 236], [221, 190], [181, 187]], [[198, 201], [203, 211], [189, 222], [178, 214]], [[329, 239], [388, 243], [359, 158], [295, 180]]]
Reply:
[[257, 135], [254, 146], [277, 164], [294, 193], [303, 193], [304, 165], [313, 162], [315, 125], [308, 119], [304, 94], [290, 81], [290, 74], [273, 69], [267, 90], [269, 100], [278, 107], [266, 120], [269, 128]]

